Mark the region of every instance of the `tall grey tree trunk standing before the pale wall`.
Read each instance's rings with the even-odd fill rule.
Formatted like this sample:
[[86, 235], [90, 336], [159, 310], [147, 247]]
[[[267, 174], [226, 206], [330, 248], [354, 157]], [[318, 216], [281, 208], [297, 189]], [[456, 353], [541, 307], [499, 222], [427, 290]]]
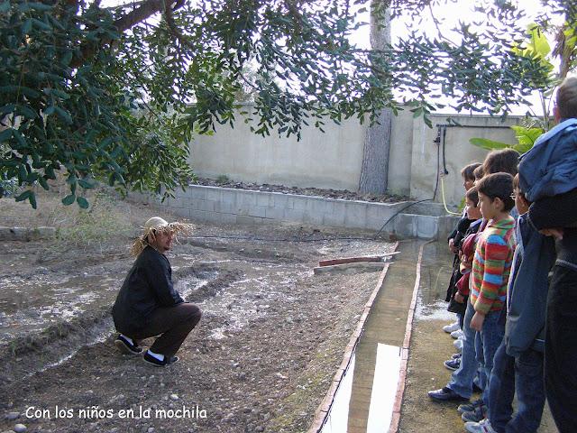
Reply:
[[[390, 43], [390, 14], [373, 14], [377, 2], [371, 0], [371, 48], [382, 50]], [[359, 191], [364, 194], [384, 194], [389, 177], [389, 149], [392, 113], [384, 109], [378, 116], [379, 124], [367, 127], [362, 152]]]

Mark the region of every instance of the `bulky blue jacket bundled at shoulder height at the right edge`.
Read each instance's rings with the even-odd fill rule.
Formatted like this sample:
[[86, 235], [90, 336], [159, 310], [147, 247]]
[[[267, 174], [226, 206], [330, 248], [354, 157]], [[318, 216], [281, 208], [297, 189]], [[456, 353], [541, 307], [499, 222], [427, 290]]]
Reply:
[[577, 119], [541, 135], [519, 161], [519, 186], [530, 202], [577, 188]]

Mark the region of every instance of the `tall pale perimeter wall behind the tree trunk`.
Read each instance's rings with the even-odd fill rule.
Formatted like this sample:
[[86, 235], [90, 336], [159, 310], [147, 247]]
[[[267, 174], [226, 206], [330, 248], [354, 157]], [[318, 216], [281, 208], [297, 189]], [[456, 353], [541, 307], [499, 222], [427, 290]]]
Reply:
[[[400, 112], [393, 117], [389, 192], [416, 199], [433, 197], [437, 170], [435, 126], [446, 124], [448, 116], [434, 115], [433, 129], [426, 126], [422, 118], [414, 119], [410, 112]], [[449, 174], [444, 180], [445, 197], [448, 203], [458, 204], [463, 198], [461, 168], [472, 161], [482, 162], [487, 153], [472, 146], [469, 139], [484, 137], [516, 143], [512, 130], [491, 126], [516, 124], [518, 118], [508, 118], [505, 124], [499, 117], [487, 115], [452, 115], [452, 118], [463, 126], [482, 126], [447, 128], [445, 161]], [[234, 128], [218, 125], [214, 135], [195, 137], [190, 163], [198, 176], [212, 179], [225, 175], [244, 182], [356, 190], [366, 127], [355, 118], [341, 125], [327, 121], [325, 134], [307, 127], [300, 141], [276, 132], [263, 138], [252, 134], [249, 125], [238, 115]], [[437, 201], [440, 200], [439, 185]]]

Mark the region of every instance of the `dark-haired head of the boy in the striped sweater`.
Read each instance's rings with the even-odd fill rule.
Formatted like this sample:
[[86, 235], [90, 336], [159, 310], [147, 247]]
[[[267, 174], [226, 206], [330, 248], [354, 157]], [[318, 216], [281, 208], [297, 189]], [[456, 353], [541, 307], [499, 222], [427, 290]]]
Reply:
[[513, 176], [508, 173], [492, 173], [477, 183], [481, 214], [486, 219], [506, 217], [515, 206]]

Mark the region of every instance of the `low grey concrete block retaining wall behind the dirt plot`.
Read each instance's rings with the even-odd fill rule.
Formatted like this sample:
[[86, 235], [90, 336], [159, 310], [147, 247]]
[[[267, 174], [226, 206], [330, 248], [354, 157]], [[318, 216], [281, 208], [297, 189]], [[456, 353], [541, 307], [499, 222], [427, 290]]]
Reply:
[[[191, 185], [175, 194], [175, 198], [168, 198], [164, 203], [152, 196], [131, 196], [138, 201], [164, 207], [181, 217], [219, 224], [285, 222], [378, 231], [389, 218], [395, 216], [385, 227], [386, 233], [423, 239], [442, 239], [454, 225], [450, 217], [443, 216], [442, 208], [435, 203], [426, 207], [415, 205], [414, 213], [404, 213], [406, 208], [411, 212], [409, 209], [413, 207], [408, 208], [410, 202], [372, 203], [199, 185]], [[430, 215], [419, 215], [422, 213]]]

